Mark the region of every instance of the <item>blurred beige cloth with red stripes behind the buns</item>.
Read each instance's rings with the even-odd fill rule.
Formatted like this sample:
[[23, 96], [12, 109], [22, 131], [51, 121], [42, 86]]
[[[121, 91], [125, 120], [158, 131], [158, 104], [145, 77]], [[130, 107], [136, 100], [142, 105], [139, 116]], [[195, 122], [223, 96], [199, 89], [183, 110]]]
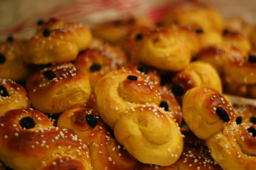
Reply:
[[[34, 34], [39, 19], [58, 17], [79, 21], [93, 27], [97, 23], [130, 15], [149, 17], [154, 21], [177, 3], [184, 0], [1, 0], [0, 39], [7, 35], [29, 38]], [[196, 0], [186, 0], [196, 1]], [[242, 17], [255, 24], [254, 0], [207, 0], [225, 18]]]

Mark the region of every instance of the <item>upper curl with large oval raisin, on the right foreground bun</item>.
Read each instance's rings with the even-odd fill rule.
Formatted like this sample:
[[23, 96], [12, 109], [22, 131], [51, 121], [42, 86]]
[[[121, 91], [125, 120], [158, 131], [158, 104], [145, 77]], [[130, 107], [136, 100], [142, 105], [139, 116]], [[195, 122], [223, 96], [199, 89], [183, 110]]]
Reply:
[[183, 98], [182, 111], [185, 122], [200, 139], [211, 137], [223, 129], [225, 122], [234, 120], [228, 101], [218, 91], [208, 87], [188, 90]]

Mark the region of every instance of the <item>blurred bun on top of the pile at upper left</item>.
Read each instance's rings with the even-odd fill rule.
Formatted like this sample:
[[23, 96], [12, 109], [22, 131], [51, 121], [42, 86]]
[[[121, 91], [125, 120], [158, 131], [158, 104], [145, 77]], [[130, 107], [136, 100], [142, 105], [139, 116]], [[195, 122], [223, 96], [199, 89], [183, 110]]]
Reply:
[[89, 47], [90, 31], [82, 24], [52, 19], [43, 24], [25, 45], [23, 59], [29, 64], [61, 64]]

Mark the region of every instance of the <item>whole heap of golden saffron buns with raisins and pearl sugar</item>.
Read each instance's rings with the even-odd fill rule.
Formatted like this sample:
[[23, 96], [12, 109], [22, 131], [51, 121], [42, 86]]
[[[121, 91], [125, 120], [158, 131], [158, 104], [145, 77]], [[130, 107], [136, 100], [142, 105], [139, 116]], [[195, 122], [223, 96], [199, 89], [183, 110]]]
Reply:
[[256, 98], [255, 43], [198, 3], [40, 20], [0, 43], [0, 170], [256, 170], [256, 108], [225, 95]]

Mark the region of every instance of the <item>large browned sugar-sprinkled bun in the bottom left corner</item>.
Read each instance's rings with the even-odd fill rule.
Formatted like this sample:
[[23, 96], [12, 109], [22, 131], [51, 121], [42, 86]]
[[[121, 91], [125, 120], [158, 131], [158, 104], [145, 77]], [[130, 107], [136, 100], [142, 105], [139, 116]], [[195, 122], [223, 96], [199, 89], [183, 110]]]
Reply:
[[0, 124], [0, 159], [10, 168], [91, 169], [89, 149], [82, 140], [66, 129], [53, 127], [37, 110], [10, 110], [0, 117]]

